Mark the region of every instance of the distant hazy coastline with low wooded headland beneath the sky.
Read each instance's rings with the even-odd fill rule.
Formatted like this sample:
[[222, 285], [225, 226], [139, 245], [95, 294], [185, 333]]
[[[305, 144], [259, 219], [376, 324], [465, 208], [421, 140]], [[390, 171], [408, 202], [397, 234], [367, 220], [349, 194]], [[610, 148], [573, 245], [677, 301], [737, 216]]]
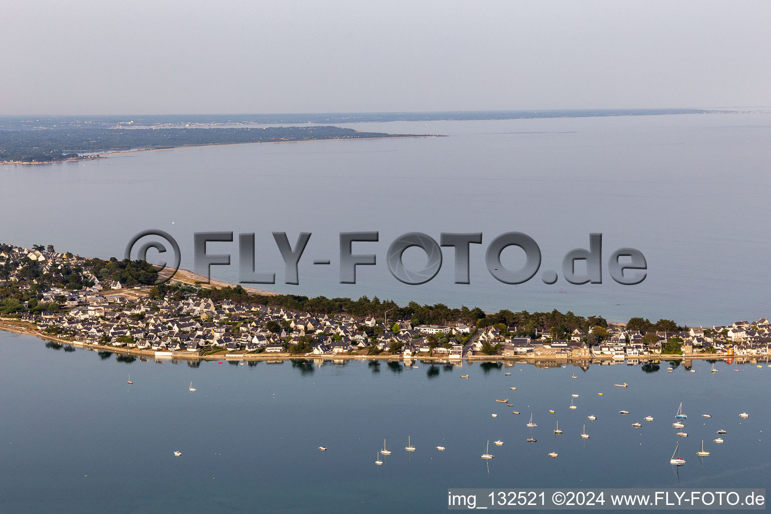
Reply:
[[[360, 132], [342, 123], [470, 121], [727, 114], [710, 109], [544, 109], [410, 113], [197, 114], [141, 116], [0, 116], [0, 163], [54, 163], [101, 154], [185, 146], [325, 139], [429, 137]], [[295, 125], [295, 126], [281, 126]], [[301, 126], [298, 126], [301, 125]]]

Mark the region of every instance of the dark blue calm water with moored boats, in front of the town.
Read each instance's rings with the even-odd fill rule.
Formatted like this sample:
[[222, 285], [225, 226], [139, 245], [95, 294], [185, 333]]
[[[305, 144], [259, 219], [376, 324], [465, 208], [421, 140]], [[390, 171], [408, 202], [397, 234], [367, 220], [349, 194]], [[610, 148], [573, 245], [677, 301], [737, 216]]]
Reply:
[[[0, 332], [0, 512], [443, 512], [448, 488], [766, 487], [771, 479], [765, 365], [719, 362], [719, 373], [700, 361], [695, 373], [684, 365], [667, 373], [666, 363], [654, 373], [624, 364], [415, 365], [126, 364]], [[190, 381], [197, 392], [187, 391]], [[621, 381], [628, 389], [612, 386]], [[671, 425], [681, 401], [688, 438]], [[749, 418], [739, 418], [744, 411]], [[588, 440], [579, 437], [584, 424]], [[728, 431], [723, 445], [712, 442], [719, 428]], [[526, 442], [531, 435], [536, 443]], [[393, 453], [376, 466], [384, 438]], [[499, 438], [495, 459], [480, 459]], [[703, 462], [702, 438], [712, 452]], [[678, 440], [687, 463], [675, 471], [668, 459]]]

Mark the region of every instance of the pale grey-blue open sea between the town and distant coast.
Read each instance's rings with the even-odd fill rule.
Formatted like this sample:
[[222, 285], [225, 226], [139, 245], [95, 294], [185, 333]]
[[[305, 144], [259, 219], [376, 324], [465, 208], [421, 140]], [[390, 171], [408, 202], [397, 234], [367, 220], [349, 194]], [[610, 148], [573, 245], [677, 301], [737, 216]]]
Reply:
[[[553, 308], [725, 324], [771, 314], [771, 113], [621, 116], [429, 123], [362, 123], [362, 130], [449, 137], [257, 144], [113, 156], [88, 163], [0, 166], [5, 219], [0, 240], [54, 244], [96, 257], [123, 255], [133, 234], [167, 230], [193, 267], [193, 233], [256, 233], [258, 270], [273, 270], [271, 291], [442, 302], [528, 311]], [[377, 254], [359, 267], [358, 284], [339, 284], [338, 233], [378, 230]], [[500, 233], [527, 233], [540, 245], [541, 270], [561, 275], [564, 254], [604, 235], [604, 283], [581, 286], [540, 273], [502, 284], [487, 272], [484, 250]], [[300, 284], [283, 284], [272, 231], [313, 233]], [[389, 274], [385, 252], [397, 236], [482, 232], [472, 245], [471, 284], [453, 284], [446, 249], [439, 274], [408, 286]], [[237, 243], [215, 278], [237, 281]], [[648, 259], [637, 286], [611, 280], [607, 260], [619, 247]], [[516, 250], [516, 251], [515, 251]], [[523, 255], [503, 252], [508, 267]], [[421, 267], [416, 249], [406, 262]], [[314, 266], [314, 259], [331, 266]], [[163, 260], [163, 259], [159, 259]]]

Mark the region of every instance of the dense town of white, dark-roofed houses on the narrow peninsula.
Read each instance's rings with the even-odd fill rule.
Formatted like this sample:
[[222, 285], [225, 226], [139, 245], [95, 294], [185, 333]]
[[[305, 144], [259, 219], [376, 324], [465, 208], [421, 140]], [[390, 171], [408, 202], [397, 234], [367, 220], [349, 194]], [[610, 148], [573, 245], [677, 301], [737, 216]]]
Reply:
[[481, 313], [476, 322], [466, 318], [431, 324], [415, 317], [389, 317], [393, 307], [363, 316], [321, 314], [271, 305], [270, 297], [249, 296], [239, 286], [227, 288], [234, 299], [176, 281], [156, 286], [152, 270], [143, 261], [85, 259], [56, 252], [51, 245], [0, 244], [0, 328], [56, 344], [190, 359], [634, 363], [760, 357], [771, 351], [771, 323], [766, 318], [688, 328], [666, 320], [608, 323], [591, 317], [578, 323], [584, 326], [566, 328], [506, 324]]

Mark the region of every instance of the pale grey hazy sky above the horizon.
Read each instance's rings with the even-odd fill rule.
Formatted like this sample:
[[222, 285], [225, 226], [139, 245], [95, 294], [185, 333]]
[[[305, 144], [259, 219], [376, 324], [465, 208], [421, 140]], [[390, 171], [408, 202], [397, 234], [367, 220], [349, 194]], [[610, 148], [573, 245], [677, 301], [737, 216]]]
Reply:
[[771, 105], [771, 2], [2, 0], [0, 114]]

